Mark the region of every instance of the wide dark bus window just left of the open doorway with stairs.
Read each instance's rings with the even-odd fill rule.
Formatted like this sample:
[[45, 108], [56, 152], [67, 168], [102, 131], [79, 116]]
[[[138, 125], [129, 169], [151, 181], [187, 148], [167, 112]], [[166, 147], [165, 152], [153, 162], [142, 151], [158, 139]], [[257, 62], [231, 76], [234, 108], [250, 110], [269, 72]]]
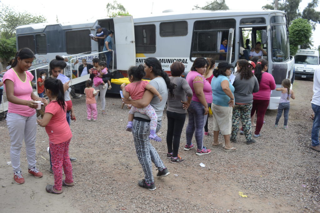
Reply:
[[66, 46], [68, 54], [77, 54], [91, 51], [89, 29], [72, 30], [66, 32]]

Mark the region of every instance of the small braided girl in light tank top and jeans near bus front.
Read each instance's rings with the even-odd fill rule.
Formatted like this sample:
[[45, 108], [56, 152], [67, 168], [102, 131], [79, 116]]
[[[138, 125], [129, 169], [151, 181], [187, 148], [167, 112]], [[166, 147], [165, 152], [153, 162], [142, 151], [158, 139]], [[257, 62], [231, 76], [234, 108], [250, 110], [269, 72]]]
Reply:
[[276, 88], [276, 91], [281, 91], [280, 102], [278, 106], [278, 114], [276, 117], [275, 128], [278, 127], [279, 119], [281, 118], [282, 111], [284, 111], [284, 129], [288, 129], [288, 118], [290, 110], [290, 97], [295, 99], [293, 90], [290, 89], [291, 81], [290, 79], [284, 79], [281, 83], [282, 87]]

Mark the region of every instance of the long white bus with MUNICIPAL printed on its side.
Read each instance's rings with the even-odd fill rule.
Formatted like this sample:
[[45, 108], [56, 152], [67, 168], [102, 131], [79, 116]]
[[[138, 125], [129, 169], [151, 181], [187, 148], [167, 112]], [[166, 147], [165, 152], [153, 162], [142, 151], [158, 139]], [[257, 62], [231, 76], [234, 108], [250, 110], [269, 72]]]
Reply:
[[[170, 74], [174, 61], [185, 64], [186, 73], [196, 57], [211, 57], [218, 64], [230, 61], [235, 65], [240, 47], [250, 51], [260, 41], [267, 51], [263, 56], [269, 62], [268, 72], [281, 86], [284, 78], [292, 78], [294, 58], [289, 55], [288, 27], [283, 11], [204, 11], [187, 13], [165, 12], [148, 17], [132, 16], [98, 19], [86, 23], [38, 23], [19, 26], [16, 29], [17, 49], [28, 47], [36, 53], [36, 66], [51, 61], [55, 55], [79, 54], [79, 62], [86, 58], [90, 63], [98, 52], [98, 43], [89, 34], [95, 35], [95, 26], [114, 31], [115, 78], [126, 76], [126, 70], [135, 64], [144, 63], [147, 57], [158, 58], [163, 69]], [[245, 44], [249, 35], [249, 45]], [[223, 38], [228, 39], [227, 53], [220, 53]], [[119, 91], [115, 87], [111, 91]], [[277, 109], [280, 92], [271, 94], [269, 109]]]

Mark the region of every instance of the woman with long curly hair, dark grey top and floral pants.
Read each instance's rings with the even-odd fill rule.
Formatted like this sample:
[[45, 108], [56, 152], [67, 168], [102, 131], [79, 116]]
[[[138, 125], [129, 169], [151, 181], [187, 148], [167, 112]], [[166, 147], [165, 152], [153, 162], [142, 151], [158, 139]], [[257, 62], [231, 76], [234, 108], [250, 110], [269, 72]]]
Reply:
[[251, 133], [251, 109], [253, 102], [252, 93], [259, 91], [259, 83], [253, 75], [250, 64], [247, 60], [237, 61], [237, 72], [233, 86], [235, 87], [235, 106], [232, 111], [232, 132], [230, 141], [236, 143], [236, 136], [239, 130], [241, 118], [244, 135], [247, 144], [255, 143]]

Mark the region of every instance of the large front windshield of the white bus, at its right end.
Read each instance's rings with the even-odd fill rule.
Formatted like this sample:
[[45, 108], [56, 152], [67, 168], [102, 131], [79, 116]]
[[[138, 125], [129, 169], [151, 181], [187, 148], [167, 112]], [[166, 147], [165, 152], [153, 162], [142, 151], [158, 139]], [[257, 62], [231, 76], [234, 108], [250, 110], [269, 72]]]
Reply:
[[284, 62], [289, 59], [289, 40], [285, 25], [271, 27], [272, 60]]

